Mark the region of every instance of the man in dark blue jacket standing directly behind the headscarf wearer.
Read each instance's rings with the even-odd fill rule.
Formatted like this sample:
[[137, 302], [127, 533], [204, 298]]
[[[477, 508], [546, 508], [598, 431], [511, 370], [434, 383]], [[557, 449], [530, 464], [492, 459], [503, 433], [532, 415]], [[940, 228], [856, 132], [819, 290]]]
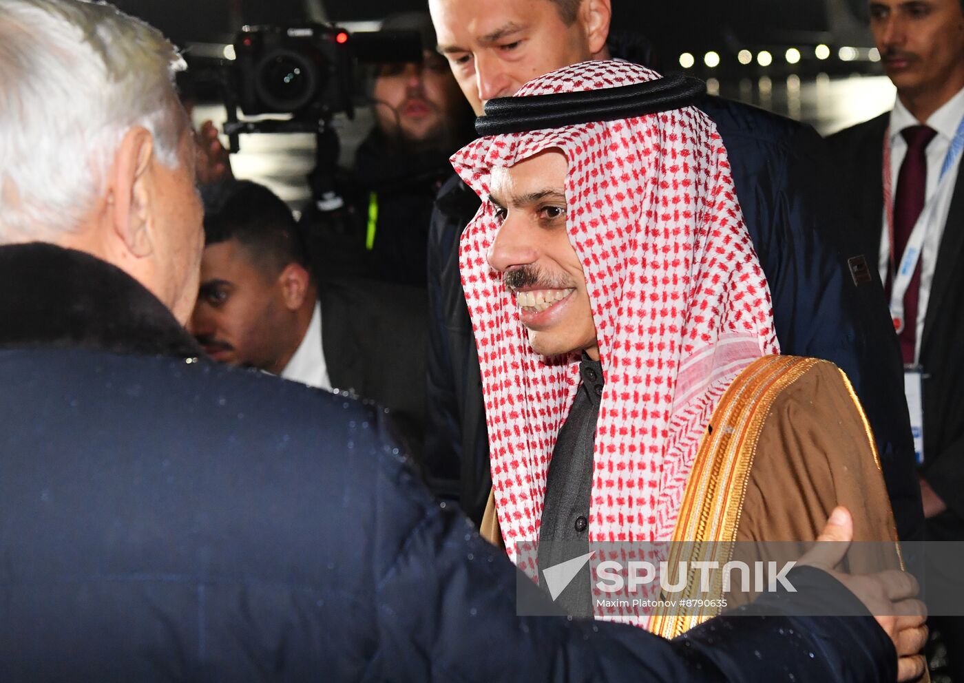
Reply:
[[[643, 62], [639, 40], [609, 36], [609, 0], [431, 0], [439, 49], [477, 114], [488, 99], [561, 66], [610, 56]], [[642, 49], [640, 49], [642, 48]], [[921, 539], [924, 516], [893, 325], [879, 278], [844, 240], [823, 142], [810, 127], [737, 102], [699, 105], [729, 152], [736, 195], [770, 286], [785, 355], [839, 365], [867, 411], [897, 532]], [[458, 243], [478, 208], [457, 177], [429, 233], [426, 472], [478, 521], [491, 486], [478, 358], [458, 271]]]

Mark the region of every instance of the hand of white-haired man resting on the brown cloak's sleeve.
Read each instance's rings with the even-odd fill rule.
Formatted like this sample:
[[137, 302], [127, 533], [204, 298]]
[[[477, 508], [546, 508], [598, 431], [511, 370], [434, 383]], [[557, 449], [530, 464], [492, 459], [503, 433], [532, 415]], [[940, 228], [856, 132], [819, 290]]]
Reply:
[[817, 545], [799, 564], [823, 569], [860, 598], [897, 649], [897, 680], [916, 680], [926, 670], [921, 650], [927, 641], [924, 603], [914, 599], [919, 591], [917, 580], [896, 569], [862, 576], [837, 571], [835, 567], [844, 560], [852, 540], [853, 518], [846, 508], [836, 508], [817, 537]]

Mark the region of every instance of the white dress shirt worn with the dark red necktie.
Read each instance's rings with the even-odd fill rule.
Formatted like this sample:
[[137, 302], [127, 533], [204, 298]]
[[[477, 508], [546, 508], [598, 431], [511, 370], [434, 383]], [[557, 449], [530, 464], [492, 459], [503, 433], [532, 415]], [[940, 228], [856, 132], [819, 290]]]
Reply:
[[[948, 222], [948, 213], [951, 211], [951, 198], [954, 194], [957, 172], [960, 170], [960, 157], [948, 171], [948, 177], [938, 193], [938, 180], [941, 177], [941, 167], [944, 166], [944, 159], [948, 155], [951, 141], [957, 133], [957, 127], [964, 118], [964, 90], [957, 92], [944, 106], [934, 112], [927, 119], [926, 125], [937, 131], [937, 135], [927, 145], [927, 187], [925, 201], [927, 204], [936, 202], [934, 209], [934, 220], [927, 227], [926, 237], [924, 238], [924, 250], [921, 253], [921, 262], [918, 268], [921, 269], [921, 289], [918, 294], [917, 308], [917, 349], [918, 354], [921, 350], [921, 339], [924, 336], [924, 319], [927, 314], [927, 302], [930, 299], [930, 284], [934, 279], [934, 269], [937, 265], [937, 255], [941, 249], [941, 238], [944, 236], [944, 226]], [[903, 106], [899, 99], [891, 112], [890, 145], [891, 145], [891, 187], [897, 193], [897, 176], [900, 173], [900, 166], [903, 164], [907, 154], [907, 142], [900, 135], [907, 126], [919, 125], [920, 121], [914, 118], [907, 108]], [[903, 254], [897, 254], [895, 261], [899, 262]], [[880, 237], [880, 281], [886, 282], [888, 271], [890, 270], [891, 240], [887, 227], [887, 209], [884, 208], [883, 230]]]

